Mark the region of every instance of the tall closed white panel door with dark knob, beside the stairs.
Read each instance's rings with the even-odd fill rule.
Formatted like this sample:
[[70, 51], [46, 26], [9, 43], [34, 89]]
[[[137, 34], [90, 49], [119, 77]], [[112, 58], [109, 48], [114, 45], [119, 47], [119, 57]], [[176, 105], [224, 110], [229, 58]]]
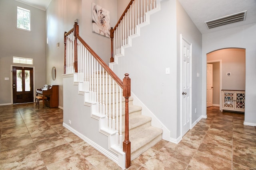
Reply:
[[191, 127], [191, 56], [192, 44], [181, 35], [181, 121], [182, 136]]

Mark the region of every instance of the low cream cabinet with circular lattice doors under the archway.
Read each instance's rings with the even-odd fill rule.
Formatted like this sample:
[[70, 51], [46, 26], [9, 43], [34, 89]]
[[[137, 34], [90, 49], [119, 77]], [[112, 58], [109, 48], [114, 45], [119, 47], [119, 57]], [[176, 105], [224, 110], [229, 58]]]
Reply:
[[222, 90], [221, 111], [242, 111], [245, 109], [245, 91], [241, 90]]

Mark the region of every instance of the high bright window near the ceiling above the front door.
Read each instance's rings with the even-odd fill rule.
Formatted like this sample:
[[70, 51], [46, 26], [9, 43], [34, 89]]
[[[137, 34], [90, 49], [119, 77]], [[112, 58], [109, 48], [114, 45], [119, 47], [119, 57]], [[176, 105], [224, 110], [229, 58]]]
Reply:
[[17, 28], [30, 31], [30, 10], [17, 6]]

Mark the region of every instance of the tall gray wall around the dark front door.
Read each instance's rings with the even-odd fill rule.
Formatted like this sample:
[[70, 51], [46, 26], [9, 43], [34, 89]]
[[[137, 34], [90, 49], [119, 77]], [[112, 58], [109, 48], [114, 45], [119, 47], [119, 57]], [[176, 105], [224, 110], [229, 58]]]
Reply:
[[[30, 10], [31, 31], [16, 28], [17, 6]], [[0, 0], [0, 105], [13, 102], [10, 72], [13, 56], [32, 58], [35, 88], [46, 84], [45, 23], [45, 11], [15, 0]], [[5, 77], [10, 80], [4, 80]]]

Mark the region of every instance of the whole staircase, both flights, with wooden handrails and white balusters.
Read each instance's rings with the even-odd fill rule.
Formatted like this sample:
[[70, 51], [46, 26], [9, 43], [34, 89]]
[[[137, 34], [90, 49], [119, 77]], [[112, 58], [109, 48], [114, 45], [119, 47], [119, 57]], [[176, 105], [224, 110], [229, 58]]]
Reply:
[[[111, 57], [111, 61], [115, 58], [115, 64], [117, 57], [124, 56], [124, 48], [130, 46], [131, 38], [140, 35], [140, 27], [149, 23], [150, 12], [154, 13], [160, 9], [160, 1], [131, 0], [128, 7], [115, 27], [119, 32], [111, 29], [110, 36], [115, 51], [112, 51], [114, 57]], [[132, 19], [136, 18], [137, 14], [128, 19], [128, 16], [132, 16], [129, 11], [134, 9], [141, 14], [139, 21]], [[123, 19], [131, 23], [130, 26], [124, 23]], [[118, 28], [120, 24], [123, 29]], [[124, 25], [130, 29], [124, 29]], [[120, 32], [121, 30], [126, 31]], [[121, 39], [114, 37], [120, 34], [123, 35], [118, 36]], [[64, 43], [63, 126], [123, 169], [129, 168], [131, 160], [162, 139], [163, 130], [152, 127], [151, 117], [142, 115], [142, 107], [133, 105], [129, 74], [125, 74], [123, 81], [120, 80], [79, 36], [77, 23], [74, 28], [65, 32]], [[85, 107], [80, 103], [81, 96]], [[91, 118], [88, 117], [88, 110]], [[89, 125], [95, 123], [93, 118], [98, 120], [97, 130], [91, 129], [92, 126]], [[71, 124], [71, 119], [75, 124]]]

